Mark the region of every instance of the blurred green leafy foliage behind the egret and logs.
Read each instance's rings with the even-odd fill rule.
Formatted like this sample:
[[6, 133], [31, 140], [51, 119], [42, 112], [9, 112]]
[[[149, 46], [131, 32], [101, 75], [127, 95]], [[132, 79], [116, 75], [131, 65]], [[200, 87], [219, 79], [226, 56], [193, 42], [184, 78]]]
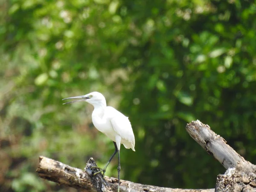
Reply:
[[93, 107], [61, 101], [91, 91], [133, 125], [122, 179], [214, 188], [225, 170], [186, 133], [195, 119], [256, 164], [255, 14], [246, 0], [0, 0], [0, 191], [76, 191], [39, 178], [39, 155], [107, 162]]

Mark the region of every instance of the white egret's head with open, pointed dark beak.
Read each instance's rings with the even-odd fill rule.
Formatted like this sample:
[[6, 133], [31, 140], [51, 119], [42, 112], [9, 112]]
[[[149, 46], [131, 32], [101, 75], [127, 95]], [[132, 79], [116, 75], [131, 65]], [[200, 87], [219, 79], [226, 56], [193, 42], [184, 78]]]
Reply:
[[85, 102], [88, 102], [88, 103], [92, 104], [94, 107], [96, 107], [98, 105], [99, 106], [102, 106], [102, 105], [106, 106], [106, 99], [99, 92], [92, 92], [92, 93], [88, 93], [88, 94], [83, 95], [83, 96], [68, 97], [68, 98], [65, 98], [65, 99], [62, 99], [62, 100], [66, 100], [66, 99], [79, 99], [79, 100], [63, 103], [63, 105], [68, 104], [68, 103], [73, 103], [73, 102], [85, 101]]

